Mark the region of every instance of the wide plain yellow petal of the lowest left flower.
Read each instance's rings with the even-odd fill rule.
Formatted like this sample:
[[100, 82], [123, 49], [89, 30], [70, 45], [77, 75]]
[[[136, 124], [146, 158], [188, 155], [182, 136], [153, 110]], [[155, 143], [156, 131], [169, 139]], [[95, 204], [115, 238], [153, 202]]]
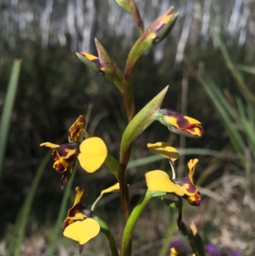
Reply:
[[78, 241], [80, 245], [84, 245], [91, 238], [98, 235], [100, 227], [96, 220], [87, 218], [80, 222], [77, 222], [69, 225], [64, 230], [64, 236], [69, 237], [75, 241]]

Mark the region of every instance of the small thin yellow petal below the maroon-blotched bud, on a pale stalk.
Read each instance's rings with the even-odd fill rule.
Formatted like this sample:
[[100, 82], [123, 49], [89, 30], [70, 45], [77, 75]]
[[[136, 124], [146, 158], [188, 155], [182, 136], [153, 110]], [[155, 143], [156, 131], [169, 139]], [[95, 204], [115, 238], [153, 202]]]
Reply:
[[148, 143], [150, 151], [154, 154], [161, 154], [166, 158], [170, 158], [172, 161], [175, 161], [179, 158], [179, 153], [174, 147], [170, 147], [166, 142], [157, 142], [157, 143]]

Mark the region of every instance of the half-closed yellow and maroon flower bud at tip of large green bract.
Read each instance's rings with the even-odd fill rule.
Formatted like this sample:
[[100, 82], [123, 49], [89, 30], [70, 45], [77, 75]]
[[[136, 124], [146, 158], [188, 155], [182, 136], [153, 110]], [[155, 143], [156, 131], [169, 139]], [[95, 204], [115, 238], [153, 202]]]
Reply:
[[203, 127], [200, 121], [171, 109], [159, 110], [157, 120], [164, 124], [171, 132], [186, 137], [199, 138], [203, 135]]

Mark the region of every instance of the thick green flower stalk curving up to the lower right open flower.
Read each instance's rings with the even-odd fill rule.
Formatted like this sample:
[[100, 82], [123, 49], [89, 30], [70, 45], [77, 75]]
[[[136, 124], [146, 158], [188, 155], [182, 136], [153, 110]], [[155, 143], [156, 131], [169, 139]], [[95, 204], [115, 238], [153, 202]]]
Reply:
[[147, 206], [151, 198], [152, 192], [150, 190], [147, 190], [140, 198], [135, 208], [133, 209], [131, 215], [129, 216], [128, 222], [126, 223], [126, 226], [123, 231], [121, 243], [121, 256], [128, 256], [128, 247], [129, 243], [131, 242], [131, 237], [133, 234], [133, 230], [135, 229], [136, 222], [138, 221], [138, 218], [142, 214], [143, 210], [145, 209], [145, 206]]

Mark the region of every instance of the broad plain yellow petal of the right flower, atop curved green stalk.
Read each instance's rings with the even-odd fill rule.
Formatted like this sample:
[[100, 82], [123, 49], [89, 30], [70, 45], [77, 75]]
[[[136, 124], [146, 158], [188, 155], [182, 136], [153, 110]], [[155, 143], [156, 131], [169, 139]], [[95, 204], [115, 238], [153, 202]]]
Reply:
[[151, 170], [145, 174], [146, 183], [151, 191], [175, 193], [180, 197], [184, 196], [186, 190], [171, 181], [170, 177], [163, 170]]

